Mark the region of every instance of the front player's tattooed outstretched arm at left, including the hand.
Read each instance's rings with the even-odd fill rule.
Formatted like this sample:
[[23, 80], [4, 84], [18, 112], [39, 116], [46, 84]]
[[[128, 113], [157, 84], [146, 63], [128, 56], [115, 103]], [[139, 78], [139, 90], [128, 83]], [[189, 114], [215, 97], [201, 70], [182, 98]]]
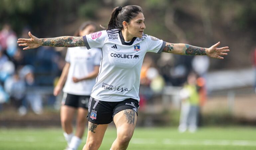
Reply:
[[37, 38], [29, 32], [31, 38], [19, 38], [17, 43], [19, 46], [27, 46], [23, 50], [37, 48], [39, 46], [52, 46], [52, 47], [77, 47], [85, 46], [83, 37], [76, 36], [61, 36], [54, 38]]

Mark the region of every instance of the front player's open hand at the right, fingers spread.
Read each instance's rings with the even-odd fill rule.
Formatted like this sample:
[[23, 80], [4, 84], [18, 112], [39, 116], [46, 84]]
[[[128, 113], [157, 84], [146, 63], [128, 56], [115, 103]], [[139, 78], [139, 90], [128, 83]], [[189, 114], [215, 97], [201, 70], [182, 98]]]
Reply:
[[219, 44], [220, 42], [212, 45], [210, 48], [207, 48], [206, 54], [212, 58], [224, 59], [221, 56], [227, 55], [227, 52], [229, 52], [229, 49], [228, 49], [228, 46], [217, 48]]

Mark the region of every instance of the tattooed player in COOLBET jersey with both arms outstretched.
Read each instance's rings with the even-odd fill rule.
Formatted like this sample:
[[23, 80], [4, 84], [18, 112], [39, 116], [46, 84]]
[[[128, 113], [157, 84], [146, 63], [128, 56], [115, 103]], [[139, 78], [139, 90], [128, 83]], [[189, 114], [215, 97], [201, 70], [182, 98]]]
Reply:
[[88, 135], [84, 150], [98, 149], [110, 122], [114, 121], [117, 138], [111, 150], [128, 147], [137, 121], [140, 70], [147, 52], [180, 55], [208, 55], [223, 59], [228, 47], [210, 48], [168, 43], [144, 34], [146, 28], [142, 8], [135, 5], [116, 7], [106, 30], [82, 37], [62, 36], [39, 39], [29, 32], [30, 39], [18, 39], [24, 50], [39, 46], [102, 48], [102, 60], [88, 107]]

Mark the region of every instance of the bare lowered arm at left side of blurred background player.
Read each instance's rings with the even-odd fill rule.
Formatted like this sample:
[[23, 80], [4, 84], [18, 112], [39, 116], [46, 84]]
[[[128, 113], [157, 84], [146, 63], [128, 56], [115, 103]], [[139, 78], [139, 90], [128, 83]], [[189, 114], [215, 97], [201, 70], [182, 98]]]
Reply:
[[57, 96], [61, 92], [61, 90], [63, 88], [63, 85], [64, 85], [64, 83], [66, 82], [66, 79], [67, 79], [67, 74], [68, 74], [69, 67], [70, 67], [70, 64], [66, 63], [64, 68], [63, 68], [61, 77], [60, 77], [57, 85], [54, 88], [54, 91], [53, 91], [54, 96]]

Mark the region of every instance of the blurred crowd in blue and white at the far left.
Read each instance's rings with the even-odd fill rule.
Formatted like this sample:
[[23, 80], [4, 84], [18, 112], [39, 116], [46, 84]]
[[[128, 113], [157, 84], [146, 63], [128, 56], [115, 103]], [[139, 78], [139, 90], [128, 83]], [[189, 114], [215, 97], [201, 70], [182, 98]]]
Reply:
[[[29, 38], [25, 27], [19, 38]], [[31, 92], [42, 86], [53, 86], [61, 74], [64, 59], [52, 47], [41, 46], [33, 51], [23, 51], [17, 45], [17, 34], [9, 24], [0, 30], [0, 111], [3, 104], [15, 107], [20, 115], [28, 109], [36, 114], [43, 111], [42, 94]]]

